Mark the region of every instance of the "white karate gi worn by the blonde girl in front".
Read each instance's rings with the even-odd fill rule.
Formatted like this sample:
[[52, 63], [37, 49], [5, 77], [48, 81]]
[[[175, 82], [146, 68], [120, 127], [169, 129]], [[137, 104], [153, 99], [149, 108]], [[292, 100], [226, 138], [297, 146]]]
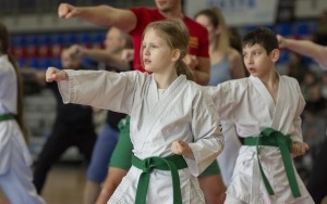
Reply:
[[[182, 200], [183, 203], [204, 203], [196, 176], [221, 152], [223, 137], [215, 105], [198, 85], [181, 75], [159, 100], [155, 78], [146, 73], [65, 72], [69, 81], [59, 82], [63, 102], [131, 115], [133, 153], [138, 158], [165, 157], [172, 154], [173, 141], [189, 142], [194, 157], [184, 156], [189, 168], [179, 170]], [[132, 166], [108, 203], [134, 203], [141, 173]], [[153, 170], [146, 202], [172, 203], [169, 171]]]

